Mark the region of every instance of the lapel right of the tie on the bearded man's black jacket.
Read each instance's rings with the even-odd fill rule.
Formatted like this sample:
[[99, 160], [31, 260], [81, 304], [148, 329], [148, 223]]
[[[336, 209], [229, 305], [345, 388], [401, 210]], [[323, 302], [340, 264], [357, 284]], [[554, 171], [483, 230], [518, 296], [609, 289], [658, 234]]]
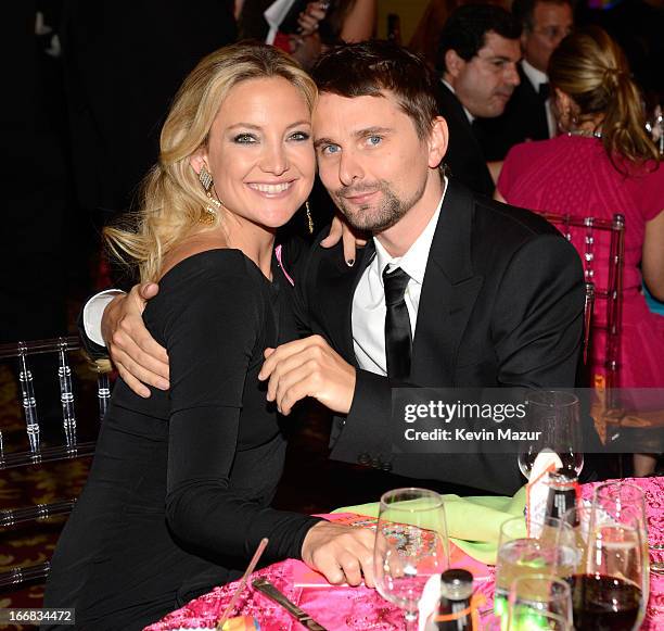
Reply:
[[449, 179], [418, 308], [410, 377], [419, 384], [456, 384], [459, 344], [484, 280], [472, 269], [473, 215], [472, 193]]

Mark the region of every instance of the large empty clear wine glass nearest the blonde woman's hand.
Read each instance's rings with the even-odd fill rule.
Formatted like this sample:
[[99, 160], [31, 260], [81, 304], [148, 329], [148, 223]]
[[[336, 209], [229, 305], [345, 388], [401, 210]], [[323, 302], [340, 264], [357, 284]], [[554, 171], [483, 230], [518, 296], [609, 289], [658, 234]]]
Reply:
[[424, 585], [448, 563], [443, 497], [414, 488], [384, 493], [373, 548], [375, 586], [383, 598], [405, 610], [406, 629], [417, 629]]

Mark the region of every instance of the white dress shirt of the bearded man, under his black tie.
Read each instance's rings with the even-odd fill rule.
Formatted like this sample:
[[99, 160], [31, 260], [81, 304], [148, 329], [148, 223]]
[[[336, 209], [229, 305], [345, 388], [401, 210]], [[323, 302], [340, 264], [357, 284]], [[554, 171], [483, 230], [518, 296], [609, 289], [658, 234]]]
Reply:
[[429, 224], [408, 252], [398, 258], [392, 257], [381, 242], [374, 237], [375, 256], [365, 269], [360, 278], [355, 295], [353, 296], [353, 348], [355, 357], [362, 370], [387, 375], [385, 359], [385, 289], [383, 286], [383, 270], [385, 267], [400, 267], [410, 276], [406, 286], [406, 306], [410, 318], [410, 331], [414, 338], [418, 323], [418, 308], [420, 306], [420, 294], [422, 282], [429, 262], [429, 251], [433, 242], [440, 206], [447, 190], [447, 178], [445, 178], [445, 190], [438, 202], [438, 207]]

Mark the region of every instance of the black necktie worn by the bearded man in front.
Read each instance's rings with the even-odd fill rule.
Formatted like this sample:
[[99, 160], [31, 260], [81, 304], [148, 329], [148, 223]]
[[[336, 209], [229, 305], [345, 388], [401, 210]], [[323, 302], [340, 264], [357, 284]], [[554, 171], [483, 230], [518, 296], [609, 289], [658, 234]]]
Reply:
[[387, 377], [405, 379], [410, 373], [410, 318], [404, 293], [410, 276], [400, 267], [383, 270], [385, 286], [385, 358]]

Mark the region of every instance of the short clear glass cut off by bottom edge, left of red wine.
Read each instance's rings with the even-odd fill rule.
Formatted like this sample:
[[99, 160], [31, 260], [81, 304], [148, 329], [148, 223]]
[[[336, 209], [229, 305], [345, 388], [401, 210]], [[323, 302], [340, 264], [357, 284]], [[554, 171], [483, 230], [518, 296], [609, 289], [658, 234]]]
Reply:
[[572, 628], [572, 593], [570, 584], [549, 575], [528, 575], [518, 577], [510, 585], [509, 602], [509, 626], [518, 619], [522, 623], [516, 629], [527, 628], [523, 621], [533, 622], [534, 628], [538, 621], [546, 620], [542, 614], [554, 614]]

